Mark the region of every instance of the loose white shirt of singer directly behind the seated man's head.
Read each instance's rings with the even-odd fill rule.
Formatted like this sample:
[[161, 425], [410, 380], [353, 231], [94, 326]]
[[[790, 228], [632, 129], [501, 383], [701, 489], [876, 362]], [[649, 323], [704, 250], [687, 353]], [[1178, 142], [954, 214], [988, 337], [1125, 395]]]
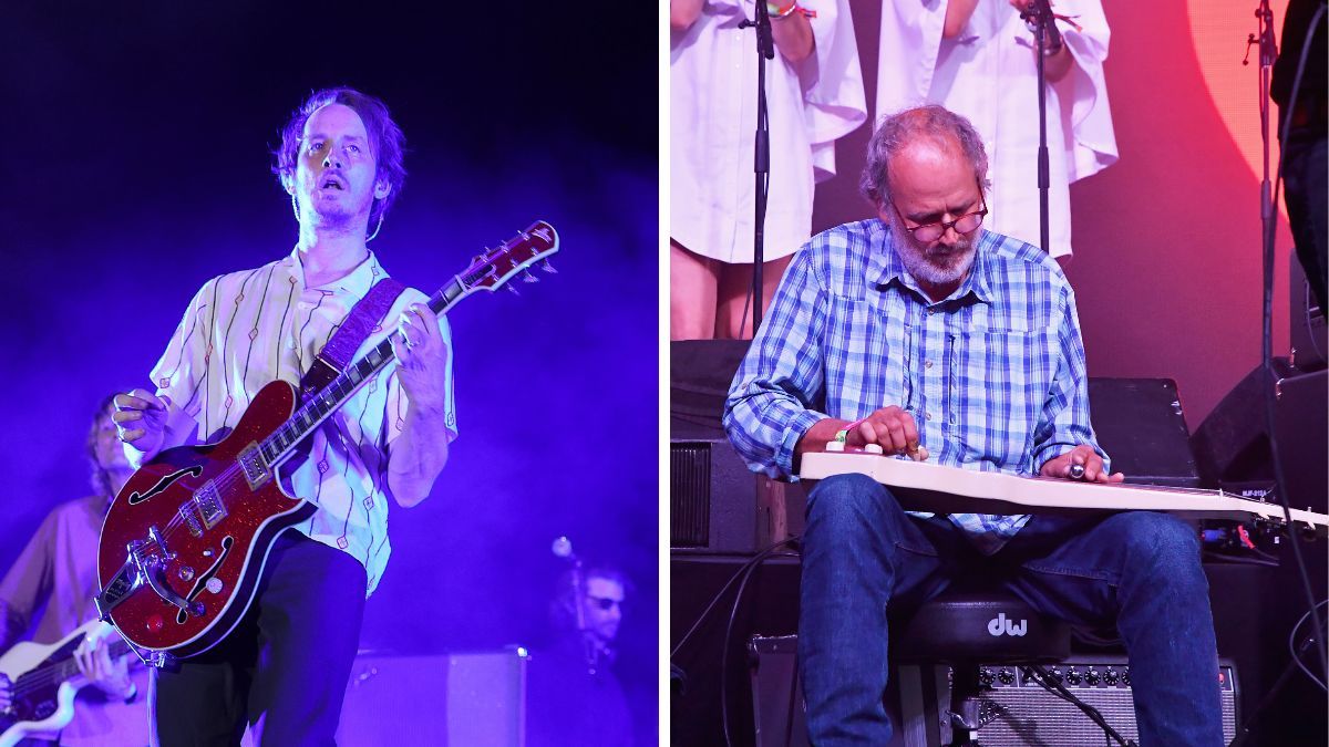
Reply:
[[[1108, 28], [1096, 0], [1058, 0], [1054, 13], [1075, 64], [1047, 86], [1049, 254], [1071, 253], [1069, 185], [1116, 161], [1103, 60]], [[1009, 0], [979, 0], [954, 39], [942, 39], [946, 1], [882, 4], [877, 114], [940, 104], [973, 122], [989, 160], [989, 215], [999, 234], [1039, 245], [1038, 61], [1034, 33]]]

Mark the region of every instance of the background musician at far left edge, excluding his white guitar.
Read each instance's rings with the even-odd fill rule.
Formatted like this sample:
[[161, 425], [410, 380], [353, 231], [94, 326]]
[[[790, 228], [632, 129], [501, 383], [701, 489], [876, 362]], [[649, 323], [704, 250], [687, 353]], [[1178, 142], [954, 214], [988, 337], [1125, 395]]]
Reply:
[[[133, 475], [110, 420], [110, 400], [106, 396], [97, 407], [88, 431], [93, 493], [56, 506], [0, 581], [0, 651], [21, 639], [54, 643], [97, 617], [92, 601], [98, 589], [97, 534], [110, 501]], [[148, 743], [148, 673], [132, 662], [133, 657], [112, 659], [113, 639], [89, 635], [80, 645], [74, 661], [96, 687], [80, 690], [73, 720], [60, 734], [29, 739], [60, 744]], [[8, 687], [0, 685], [0, 710], [8, 699]]]

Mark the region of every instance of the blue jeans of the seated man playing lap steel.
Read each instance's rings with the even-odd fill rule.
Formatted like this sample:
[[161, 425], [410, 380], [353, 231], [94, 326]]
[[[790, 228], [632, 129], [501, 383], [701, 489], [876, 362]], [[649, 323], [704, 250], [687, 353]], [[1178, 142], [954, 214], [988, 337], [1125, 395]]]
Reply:
[[1223, 744], [1208, 581], [1185, 524], [1147, 512], [1035, 516], [986, 557], [948, 518], [906, 514], [861, 475], [823, 480], [808, 502], [799, 666], [815, 744], [890, 740], [886, 606], [975, 574], [1074, 625], [1115, 623], [1142, 747]]

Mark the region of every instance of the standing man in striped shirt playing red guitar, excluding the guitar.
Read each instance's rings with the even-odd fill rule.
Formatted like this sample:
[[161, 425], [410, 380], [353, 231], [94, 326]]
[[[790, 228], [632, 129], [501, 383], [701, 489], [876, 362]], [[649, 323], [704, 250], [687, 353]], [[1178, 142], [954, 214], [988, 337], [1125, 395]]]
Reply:
[[[403, 145], [384, 104], [356, 90], [319, 90], [294, 113], [275, 171], [299, 222], [295, 249], [207, 282], [152, 371], [155, 392], [116, 397], [136, 467], [222, 439], [264, 384], [295, 384], [315, 366], [387, 278], [367, 242], [401, 191]], [[334, 743], [364, 599], [391, 554], [388, 497], [405, 508], [424, 500], [457, 436], [447, 322], [407, 288], [364, 344], [393, 332], [396, 364], [283, 467], [287, 494], [318, 510], [272, 544], [247, 614], [217, 646], [155, 670], [161, 743], [229, 744], [246, 723], [262, 744]]]

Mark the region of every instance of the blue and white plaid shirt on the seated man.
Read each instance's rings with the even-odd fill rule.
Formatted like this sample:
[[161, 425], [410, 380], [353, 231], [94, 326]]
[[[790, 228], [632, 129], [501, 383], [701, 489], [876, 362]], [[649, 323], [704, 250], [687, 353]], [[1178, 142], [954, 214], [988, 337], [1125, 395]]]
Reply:
[[[815, 423], [892, 404], [914, 417], [937, 464], [1037, 475], [1076, 444], [1103, 455], [1088, 420], [1075, 294], [1057, 262], [982, 231], [973, 270], [933, 303], [896, 241], [881, 221], [860, 221], [795, 255], [724, 407], [748, 465], [792, 477], [795, 445]], [[950, 518], [989, 554], [1029, 521]]]

